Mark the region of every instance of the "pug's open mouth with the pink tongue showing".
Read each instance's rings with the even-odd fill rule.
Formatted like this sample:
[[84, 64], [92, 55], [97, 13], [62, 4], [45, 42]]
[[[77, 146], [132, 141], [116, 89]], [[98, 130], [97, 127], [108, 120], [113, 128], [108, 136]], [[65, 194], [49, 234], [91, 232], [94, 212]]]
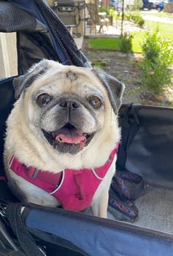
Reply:
[[[72, 124], [66, 124], [54, 132], [46, 132], [42, 129], [45, 138], [59, 151], [69, 152], [75, 154], [77, 151], [82, 150], [87, 146], [93, 138], [93, 133], [85, 133], [77, 129]], [[71, 148], [71, 149], [70, 149]]]

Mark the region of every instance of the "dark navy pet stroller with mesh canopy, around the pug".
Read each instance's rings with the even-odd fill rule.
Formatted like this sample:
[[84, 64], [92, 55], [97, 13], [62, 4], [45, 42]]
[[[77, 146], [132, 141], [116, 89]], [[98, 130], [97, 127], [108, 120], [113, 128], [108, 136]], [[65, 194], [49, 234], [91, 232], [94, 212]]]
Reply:
[[[0, 31], [17, 32], [18, 75], [41, 59], [90, 67], [45, 1], [0, 1]], [[9, 191], [3, 148], [5, 122], [15, 102], [13, 79], [0, 80], [0, 255], [172, 256], [173, 109], [121, 106], [118, 172], [109, 194], [109, 218], [103, 219], [23, 204]]]

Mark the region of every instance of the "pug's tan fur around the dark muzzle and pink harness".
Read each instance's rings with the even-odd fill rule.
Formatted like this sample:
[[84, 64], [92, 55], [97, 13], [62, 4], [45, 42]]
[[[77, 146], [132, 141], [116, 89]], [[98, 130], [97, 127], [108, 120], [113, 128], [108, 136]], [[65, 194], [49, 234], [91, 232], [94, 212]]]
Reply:
[[[120, 140], [117, 116], [112, 110], [107, 90], [102, 86], [99, 78], [91, 69], [82, 67], [67, 67], [55, 61], [47, 61], [48, 69], [45, 74], [36, 78], [26, 92], [20, 96], [7, 120], [7, 137], [5, 140], [4, 162], [6, 165], [9, 186], [12, 190], [18, 187], [19, 192], [25, 194], [25, 200], [45, 206], [58, 206], [58, 200], [42, 189], [24, 181], [9, 169], [9, 160], [12, 155], [20, 159], [27, 166], [34, 166], [42, 170], [58, 173], [66, 168], [82, 169], [94, 168], [104, 165], [115, 144]], [[77, 154], [60, 154], [43, 138], [39, 129], [37, 110], [32, 104], [32, 95], [36, 92], [82, 95], [99, 94], [104, 98], [104, 108], [96, 113], [96, 121], [83, 107], [85, 116], [85, 132], [96, 131], [91, 143]], [[52, 112], [51, 112], [52, 111]], [[51, 110], [49, 115], [54, 115]], [[46, 118], [50, 118], [46, 116]], [[47, 122], [47, 129], [55, 124]], [[104, 181], [97, 189], [91, 207], [93, 214], [107, 216], [108, 190], [112, 176], [115, 173], [115, 162], [109, 168]], [[20, 197], [20, 195], [18, 195]], [[23, 197], [22, 197], [23, 198]]]

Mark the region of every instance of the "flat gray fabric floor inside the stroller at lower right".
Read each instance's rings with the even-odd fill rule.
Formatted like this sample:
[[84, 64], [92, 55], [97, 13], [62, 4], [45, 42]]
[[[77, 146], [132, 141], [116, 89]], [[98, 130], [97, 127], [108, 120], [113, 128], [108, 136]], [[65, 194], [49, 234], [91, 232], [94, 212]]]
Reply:
[[139, 218], [134, 225], [173, 235], [173, 191], [148, 184], [145, 195], [136, 200]]

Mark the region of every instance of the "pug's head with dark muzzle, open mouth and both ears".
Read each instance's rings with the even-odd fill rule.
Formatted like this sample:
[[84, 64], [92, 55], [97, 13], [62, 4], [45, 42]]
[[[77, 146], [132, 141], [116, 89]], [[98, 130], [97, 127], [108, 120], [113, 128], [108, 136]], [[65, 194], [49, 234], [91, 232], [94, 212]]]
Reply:
[[29, 129], [61, 154], [77, 154], [99, 139], [107, 116], [117, 114], [124, 89], [104, 72], [46, 60], [14, 86]]

